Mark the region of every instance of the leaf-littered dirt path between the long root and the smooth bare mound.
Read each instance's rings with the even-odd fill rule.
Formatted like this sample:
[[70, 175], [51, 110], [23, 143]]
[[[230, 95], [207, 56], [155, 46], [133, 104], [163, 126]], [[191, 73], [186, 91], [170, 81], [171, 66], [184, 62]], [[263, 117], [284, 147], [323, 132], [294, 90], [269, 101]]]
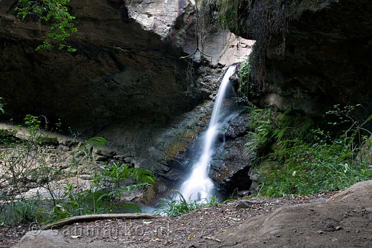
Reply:
[[[156, 220], [100, 220], [76, 223], [59, 231], [71, 243], [104, 241], [125, 248], [216, 247], [217, 235], [241, 225], [258, 215], [271, 213], [282, 206], [308, 203], [331, 194], [296, 198], [251, 198], [248, 208], [236, 208], [240, 200], [198, 209], [176, 218]], [[2, 227], [0, 247], [18, 243], [28, 231], [26, 226]]]

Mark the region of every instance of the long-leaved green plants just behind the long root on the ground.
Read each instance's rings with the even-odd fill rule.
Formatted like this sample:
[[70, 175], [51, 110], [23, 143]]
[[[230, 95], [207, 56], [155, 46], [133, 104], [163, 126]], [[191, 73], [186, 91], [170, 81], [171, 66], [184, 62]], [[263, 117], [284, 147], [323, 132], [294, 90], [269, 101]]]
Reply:
[[[83, 191], [76, 191], [75, 186], [66, 184], [67, 201], [57, 209], [59, 218], [82, 214], [140, 212], [140, 208], [121, 201], [127, 191], [145, 188], [155, 182], [155, 176], [142, 168], [130, 168], [118, 162], [111, 167], [101, 167], [102, 172], [95, 173], [91, 186]], [[131, 183], [130, 183], [130, 182]]]

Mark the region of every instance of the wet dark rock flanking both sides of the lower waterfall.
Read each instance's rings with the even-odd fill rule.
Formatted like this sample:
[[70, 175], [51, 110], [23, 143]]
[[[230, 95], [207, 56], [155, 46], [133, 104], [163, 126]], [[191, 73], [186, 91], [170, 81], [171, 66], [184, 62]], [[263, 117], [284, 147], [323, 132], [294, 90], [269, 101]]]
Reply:
[[[209, 120], [208, 120], [209, 122]], [[249, 178], [250, 163], [255, 153], [247, 154], [245, 144], [248, 141], [248, 114], [240, 112], [232, 118], [219, 135], [214, 146], [215, 154], [210, 162], [209, 177], [216, 184], [219, 193], [229, 196], [234, 191], [249, 190], [252, 181]], [[207, 125], [207, 124], [206, 124]], [[185, 181], [192, 170], [195, 160], [200, 156], [203, 131], [190, 143], [185, 150], [179, 151], [168, 162], [170, 171], [165, 177], [174, 179], [177, 187]], [[246, 194], [249, 194], [246, 192]]]

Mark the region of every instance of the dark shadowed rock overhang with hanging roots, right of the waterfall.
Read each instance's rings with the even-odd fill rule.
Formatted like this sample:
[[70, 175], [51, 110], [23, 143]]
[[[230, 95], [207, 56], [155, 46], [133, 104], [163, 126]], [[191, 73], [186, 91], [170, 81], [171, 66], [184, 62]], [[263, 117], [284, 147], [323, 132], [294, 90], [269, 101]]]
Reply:
[[322, 115], [334, 104], [361, 103], [361, 117], [370, 114], [369, 0], [243, 4], [239, 34], [257, 41], [252, 69], [262, 104]]

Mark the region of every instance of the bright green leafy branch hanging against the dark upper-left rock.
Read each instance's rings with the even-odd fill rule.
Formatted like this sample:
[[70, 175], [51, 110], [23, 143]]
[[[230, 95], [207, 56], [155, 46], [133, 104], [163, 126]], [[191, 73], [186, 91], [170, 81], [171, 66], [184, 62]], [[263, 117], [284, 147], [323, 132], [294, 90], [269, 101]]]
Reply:
[[74, 16], [68, 12], [67, 3], [70, 0], [19, 0], [17, 8], [18, 16], [22, 20], [36, 19], [50, 24], [47, 39], [36, 48], [36, 51], [50, 50], [57, 46], [59, 50], [66, 49], [67, 52], [76, 52], [76, 49], [67, 45], [65, 40], [71, 34], [77, 32], [74, 26]]

